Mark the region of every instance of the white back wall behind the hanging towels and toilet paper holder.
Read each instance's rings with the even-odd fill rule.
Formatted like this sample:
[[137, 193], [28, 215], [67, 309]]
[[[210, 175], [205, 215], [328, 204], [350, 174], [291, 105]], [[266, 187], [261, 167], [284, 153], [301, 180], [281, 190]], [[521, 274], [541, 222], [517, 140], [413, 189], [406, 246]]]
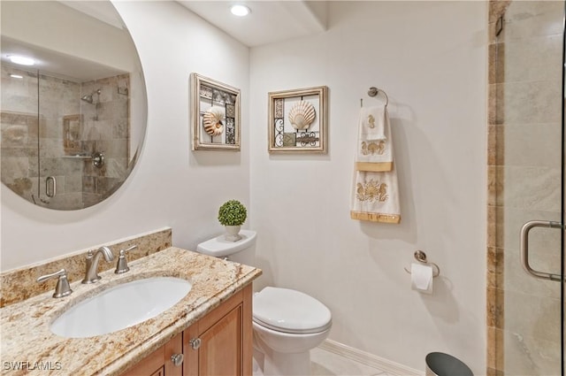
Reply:
[[[486, 3], [330, 2], [324, 34], [251, 50], [251, 225], [263, 283], [333, 311], [330, 338], [423, 370], [486, 370]], [[269, 155], [267, 93], [330, 88], [327, 155]], [[356, 119], [386, 90], [402, 224], [349, 219]], [[434, 294], [403, 267], [423, 249]]]

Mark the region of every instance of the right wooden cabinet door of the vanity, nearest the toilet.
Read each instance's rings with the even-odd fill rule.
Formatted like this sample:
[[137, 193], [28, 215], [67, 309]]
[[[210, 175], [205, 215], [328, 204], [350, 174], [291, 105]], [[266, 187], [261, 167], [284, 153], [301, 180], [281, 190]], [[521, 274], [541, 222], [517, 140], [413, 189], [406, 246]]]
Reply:
[[185, 376], [251, 376], [251, 331], [250, 285], [184, 332]]

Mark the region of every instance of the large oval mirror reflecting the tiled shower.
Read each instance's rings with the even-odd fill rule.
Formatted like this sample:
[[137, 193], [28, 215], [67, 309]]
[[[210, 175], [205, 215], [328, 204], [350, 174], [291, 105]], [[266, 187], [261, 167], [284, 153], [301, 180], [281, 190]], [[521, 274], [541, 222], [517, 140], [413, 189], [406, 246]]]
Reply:
[[2, 2], [1, 168], [26, 200], [78, 210], [132, 171], [147, 123], [134, 42], [110, 1]]

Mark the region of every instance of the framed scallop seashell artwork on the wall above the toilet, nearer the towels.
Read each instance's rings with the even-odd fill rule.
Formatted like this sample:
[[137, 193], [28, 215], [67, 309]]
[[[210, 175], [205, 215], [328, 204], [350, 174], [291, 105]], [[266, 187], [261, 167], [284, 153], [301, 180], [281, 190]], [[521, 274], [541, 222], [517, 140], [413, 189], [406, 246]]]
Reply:
[[325, 153], [328, 88], [269, 93], [269, 152]]

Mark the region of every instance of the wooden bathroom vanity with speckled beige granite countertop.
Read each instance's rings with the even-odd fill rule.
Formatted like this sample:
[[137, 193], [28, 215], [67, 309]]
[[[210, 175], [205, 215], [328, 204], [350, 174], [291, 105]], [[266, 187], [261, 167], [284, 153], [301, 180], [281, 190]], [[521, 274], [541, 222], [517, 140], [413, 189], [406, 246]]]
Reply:
[[[73, 294], [63, 298], [50, 290], [0, 309], [2, 374], [251, 374], [251, 282], [261, 270], [175, 247], [129, 266], [124, 274], [100, 272], [95, 284], [73, 281]], [[51, 332], [53, 320], [81, 301], [153, 277], [189, 280], [192, 288], [172, 308], [125, 329], [87, 338]]]

